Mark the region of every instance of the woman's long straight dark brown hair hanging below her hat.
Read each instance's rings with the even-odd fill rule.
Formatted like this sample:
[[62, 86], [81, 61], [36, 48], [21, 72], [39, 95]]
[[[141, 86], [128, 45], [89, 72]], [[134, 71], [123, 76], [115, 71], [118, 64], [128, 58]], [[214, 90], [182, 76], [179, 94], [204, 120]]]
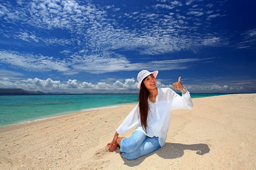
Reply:
[[[146, 79], [146, 78], [145, 78]], [[140, 85], [140, 94], [139, 94], [139, 108], [140, 108], [140, 122], [142, 125], [142, 128], [147, 133], [147, 119], [148, 119], [148, 97], [149, 97], [149, 91], [144, 85], [144, 80], [141, 82]]]

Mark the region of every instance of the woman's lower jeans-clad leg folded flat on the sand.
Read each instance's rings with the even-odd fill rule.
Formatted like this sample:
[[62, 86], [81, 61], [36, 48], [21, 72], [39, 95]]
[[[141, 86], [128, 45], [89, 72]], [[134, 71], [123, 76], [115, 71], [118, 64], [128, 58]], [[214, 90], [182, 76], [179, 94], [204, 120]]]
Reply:
[[[134, 160], [140, 158], [141, 156], [147, 155], [148, 153], [154, 152], [160, 148], [160, 143], [157, 137], [146, 137], [140, 147], [133, 153], [122, 153], [122, 157], [128, 160]], [[121, 149], [120, 149], [121, 150]]]

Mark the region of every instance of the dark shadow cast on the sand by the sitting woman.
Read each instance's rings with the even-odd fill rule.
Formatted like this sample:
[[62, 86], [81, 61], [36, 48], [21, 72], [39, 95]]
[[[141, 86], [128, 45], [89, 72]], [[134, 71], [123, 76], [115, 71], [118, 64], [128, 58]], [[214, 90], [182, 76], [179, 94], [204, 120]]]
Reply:
[[180, 158], [184, 155], [184, 150], [195, 150], [196, 154], [204, 155], [205, 153], [209, 153], [210, 149], [207, 144], [177, 144], [177, 143], [166, 143], [164, 147], [160, 148], [159, 150], [149, 153], [148, 155], [142, 156], [135, 160], [127, 160], [122, 158], [125, 162], [125, 165], [129, 167], [135, 167], [139, 165], [141, 162], [144, 161], [148, 156], [153, 155], [156, 153], [163, 159], [175, 159]]

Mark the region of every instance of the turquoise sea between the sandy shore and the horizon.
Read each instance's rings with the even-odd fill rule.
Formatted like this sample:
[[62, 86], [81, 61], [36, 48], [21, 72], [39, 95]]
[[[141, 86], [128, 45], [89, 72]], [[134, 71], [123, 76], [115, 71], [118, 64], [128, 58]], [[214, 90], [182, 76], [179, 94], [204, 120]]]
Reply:
[[[180, 94], [181, 95], [181, 94]], [[225, 94], [191, 94], [191, 98]], [[64, 113], [136, 103], [137, 94], [0, 95], [0, 126], [32, 122]]]

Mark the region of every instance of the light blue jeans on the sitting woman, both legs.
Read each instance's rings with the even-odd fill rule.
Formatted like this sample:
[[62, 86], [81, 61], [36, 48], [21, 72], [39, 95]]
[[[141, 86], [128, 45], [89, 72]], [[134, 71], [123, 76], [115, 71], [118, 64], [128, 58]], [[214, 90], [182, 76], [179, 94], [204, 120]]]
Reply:
[[160, 148], [157, 137], [150, 138], [140, 130], [132, 133], [131, 137], [124, 138], [120, 142], [120, 152], [122, 157], [134, 160]]

